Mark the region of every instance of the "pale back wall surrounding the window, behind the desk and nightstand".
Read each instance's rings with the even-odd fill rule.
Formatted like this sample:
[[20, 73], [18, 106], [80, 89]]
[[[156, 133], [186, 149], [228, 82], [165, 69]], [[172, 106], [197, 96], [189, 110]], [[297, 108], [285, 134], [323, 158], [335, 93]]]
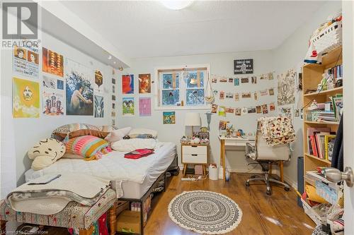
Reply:
[[[162, 122], [162, 112], [154, 110], [154, 104], [152, 104], [152, 116], [139, 116], [139, 97], [149, 96], [152, 97], [152, 102], [154, 102], [154, 84], [152, 84], [152, 94], [150, 95], [139, 95], [138, 93], [138, 75], [139, 73], [151, 73], [152, 80], [154, 80], [154, 69], [161, 66], [183, 66], [183, 65], [193, 65], [193, 64], [210, 64], [210, 72], [219, 76], [227, 76], [227, 78], [241, 78], [242, 76], [234, 76], [233, 74], [233, 64], [234, 59], [253, 59], [254, 75], [260, 75], [263, 73], [269, 73], [273, 71], [272, 64], [272, 53], [270, 51], [258, 51], [258, 52], [237, 52], [237, 53], [224, 53], [224, 54], [202, 54], [193, 56], [171, 56], [171, 57], [156, 57], [147, 59], [135, 59], [132, 61], [132, 66], [130, 69], [123, 71], [124, 74], [130, 73], [135, 76], [135, 94], [134, 95], [122, 95], [121, 91], [121, 73], [118, 74], [118, 109], [117, 109], [117, 119], [116, 123], [119, 127], [133, 126], [133, 127], [146, 127], [152, 128], [158, 131], [159, 140], [169, 141], [177, 144], [179, 164], [181, 164], [181, 145], [179, 144], [180, 138], [185, 135], [184, 118], [187, 112], [199, 112], [202, 120], [202, 126], [207, 126], [205, 112], [210, 109], [205, 110], [176, 110], [176, 124], [164, 125]], [[250, 75], [251, 76], [251, 75]], [[244, 76], [245, 77], [245, 76]], [[246, 76], [247, 77], [247, 76]], [[276, 80], [257, 80], [257, 84], [251, 84], [251, 80], [248, 84], [241, 84], [239, 86], [234, 86], [233, 83], [212, 83], [214, 90], [224, 90], [224, 92], [245, 92], [245, 91], [256, 91], [263, 90], [264, 88], [275, 87]], [[135, 116], [122, 116], [122, 97], [135, 97]], [[256, 106], [263, 103], [274, 102], [276, 94], [274, 96], [260, 96], [258, 93], [258, 101], [253, 100], [253, 95], [251, 99], [241, 99], [239, 102], [234, 101], [234, 99], [224, 99], [222, 102], [219, 101], [219, 96], [216, 95], [216, 104], [225, 105], [226, 107], [250, 107]], [[166, 110], [165, 110], [166, 111]], [[169, 110], [173, 111], [173, 109]], [[272, 115], [270, 112], [268, 115]], [[248, 114], [246, 116], [235, 116], [235, 114], [227, 114], [226, 117], [218, 116], [217, 114], [212, 115], [212, 121], [210, 123], [210, 149], [211, 158], [210, 162], [216, 162], [219, 164], [219, 152], [220, 144], [217, 138], [219, 135], [218, 123], [219, 120], [230, 121], [234, 124], [236, 129], [243, 129], [246, 133], [254, 132], [256, 128], [256, 119], [262, 116], [261, 114]], [[190, 133], [190, 129], [188, 129]], [[232, 171], [246, 172], [249, 169], [246, 166], [246, 159], [244, 157], [244, 148], [238, 149], [227, 149], [227, 167]], [[251, 166], [251, 169], [254, 165]]]

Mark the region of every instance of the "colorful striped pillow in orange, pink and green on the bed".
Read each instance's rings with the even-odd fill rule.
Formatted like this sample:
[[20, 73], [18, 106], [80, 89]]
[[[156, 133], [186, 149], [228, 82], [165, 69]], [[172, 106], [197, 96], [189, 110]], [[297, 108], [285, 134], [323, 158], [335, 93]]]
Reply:
[[67, 142], [67, 152], [81, 155], [85, 160], [100, 159], [111, 152], [109, 143], [93, 135], [72, 138]]

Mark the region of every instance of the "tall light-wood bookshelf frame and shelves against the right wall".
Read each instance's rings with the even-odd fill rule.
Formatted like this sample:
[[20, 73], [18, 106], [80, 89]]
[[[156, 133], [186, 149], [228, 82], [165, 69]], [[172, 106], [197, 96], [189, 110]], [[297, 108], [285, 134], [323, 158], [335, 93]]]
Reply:
[[[336, 47], [331, 52], [322, 56], [322, 64], [305, 64], [302, 67], [302, 101], [303, 104], [308, 104], [312, 100], [318, 103], [329, 101], [329, 97], [343, 94], [343, 87], [333, 88], [330, 90], [323, 90], [321, 92], [312, 92], [306, 94], [307, 90], [316, 90], [317, 85], [321, 82], [322, 74], [328, 68], [333, 68], [343, 64], [342, 47]], [[307, 121], [307, 108], [304, 108], [304, 122], [303, 122], [303, 140], [304, 140], [304, 186], [311, 185], [312, 182], [307, 180], [306, 172], [314, 171], [316, 167], [330, 167], [331, 162], [327, 159], [320, 159], [314, 155], [309, 155], [309, 143], [307, 138], [308, 128], [327, 127], [331, 131], [337, 131], [338, 121]]]

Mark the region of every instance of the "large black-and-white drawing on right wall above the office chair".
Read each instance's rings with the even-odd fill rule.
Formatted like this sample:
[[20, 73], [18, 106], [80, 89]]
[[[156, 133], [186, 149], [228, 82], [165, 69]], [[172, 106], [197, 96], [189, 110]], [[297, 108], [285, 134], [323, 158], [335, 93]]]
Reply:
[[278, 75], [278, 106], [295, 103], [295, 77], [293, 68]]

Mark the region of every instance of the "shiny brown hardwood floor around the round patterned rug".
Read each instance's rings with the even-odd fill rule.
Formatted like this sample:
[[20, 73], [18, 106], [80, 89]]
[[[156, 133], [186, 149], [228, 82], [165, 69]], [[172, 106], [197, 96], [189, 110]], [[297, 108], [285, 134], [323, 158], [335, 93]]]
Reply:
[[273, 195], [265, 194], [262, 183], [246, 188], [245, 182], [251, 174], [231, 174], [229, 182], [181, 181], [181, 174], [172, 177], [165, 193], [158, 198], [144, 231], [147, 235], [190, 235], [196, 234], [179, 227], [170, 218], [167, 207], [170, 201], [183, 191], [205, 190], [222, 193], [232, 198], [241, 207], [241, 223], [227, 234], [312, 234], [315, 224], [297, 206], [296, 193], [292, 188], [272, 186]]

